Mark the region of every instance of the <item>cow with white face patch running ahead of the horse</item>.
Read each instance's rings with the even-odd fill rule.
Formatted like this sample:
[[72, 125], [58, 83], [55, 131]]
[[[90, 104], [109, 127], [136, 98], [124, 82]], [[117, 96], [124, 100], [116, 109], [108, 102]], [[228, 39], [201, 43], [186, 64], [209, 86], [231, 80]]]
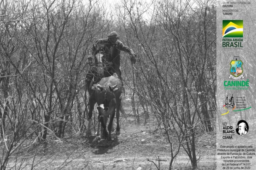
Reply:
[[[119, 116], [121, 108], [121, 99], [123, 93], [122, 82], [118, 78], [117, 74], [114, 76], [104, 77], [97, 84], [91, 86], [91, 95], [89, 97], [89, 112], [88, 112], [88, 129], [87, 135], [91, 134], [91, 118], [94, 104], [97, 103], [97, 109], [99, 111], [98, 122], [101, 123], [103, 128], [103, 136], [108, 141], [111, 141], [111, 129], [113, 119], [116, 110], [116, 135], [120, 135]], [[106, 123], [110, 117], [108, 129], [106, 129]], [[97, 133], [99, 128], [97, 129]]]

